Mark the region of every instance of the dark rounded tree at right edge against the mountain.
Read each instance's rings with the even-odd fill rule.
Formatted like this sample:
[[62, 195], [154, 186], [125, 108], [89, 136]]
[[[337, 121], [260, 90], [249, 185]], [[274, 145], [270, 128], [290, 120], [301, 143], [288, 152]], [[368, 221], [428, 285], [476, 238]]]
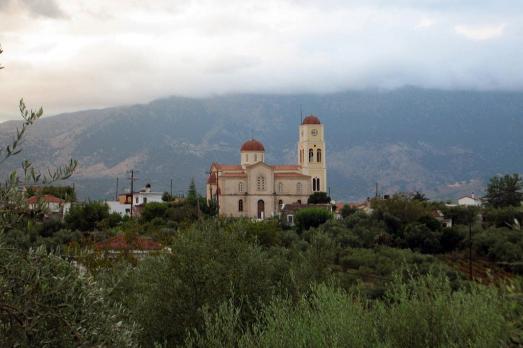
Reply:
[[494, 208], [521, 205], [523, 200], [523, 182], [519, 174], [494, 176], [487, 186], [485, 200]]

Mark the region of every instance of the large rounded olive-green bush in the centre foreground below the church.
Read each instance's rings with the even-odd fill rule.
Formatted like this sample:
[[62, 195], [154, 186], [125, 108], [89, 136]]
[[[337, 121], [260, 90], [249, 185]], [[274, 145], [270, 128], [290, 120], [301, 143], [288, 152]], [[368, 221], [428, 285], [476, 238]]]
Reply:
[[140, 262], [114, 294], [143, 327], [143, 346], [174, 346], [188, 329], [201, 327], [205, 308], [216, 310], [232, 294], [248, 303], [241, 316], [249, 321], [272, 294], [290, 289], [290, 265], [282, 253], [205, 223], [177, 233], [172, 254]]

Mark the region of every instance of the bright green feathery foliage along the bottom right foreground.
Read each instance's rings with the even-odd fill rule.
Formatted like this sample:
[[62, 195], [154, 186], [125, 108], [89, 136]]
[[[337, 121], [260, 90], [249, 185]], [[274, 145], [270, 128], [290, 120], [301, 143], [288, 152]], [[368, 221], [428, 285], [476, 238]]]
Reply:
[[383, 300], [357, 291], [312, 286], [297, 303], [275, 298], [242, 325], [241, 308], [207, 313], [189, 347], [498, 347], [507, 343], [508, 306], [495, 288], [453, 291], [448, 278], [396, 275]]

